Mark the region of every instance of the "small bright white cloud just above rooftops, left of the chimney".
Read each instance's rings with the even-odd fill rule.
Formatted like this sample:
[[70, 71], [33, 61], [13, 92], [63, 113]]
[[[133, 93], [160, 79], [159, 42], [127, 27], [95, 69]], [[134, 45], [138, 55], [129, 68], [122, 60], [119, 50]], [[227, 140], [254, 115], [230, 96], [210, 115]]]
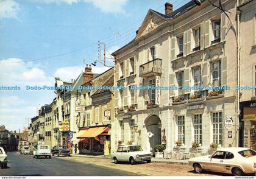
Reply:
[[71, 79], [77, 79], [81, 72], [82, 68], [80, 66], [67, 66], [64, 68], [58, 68], [54, 73], [54, 77], [59, 77], [65, 81], [71, 81]]

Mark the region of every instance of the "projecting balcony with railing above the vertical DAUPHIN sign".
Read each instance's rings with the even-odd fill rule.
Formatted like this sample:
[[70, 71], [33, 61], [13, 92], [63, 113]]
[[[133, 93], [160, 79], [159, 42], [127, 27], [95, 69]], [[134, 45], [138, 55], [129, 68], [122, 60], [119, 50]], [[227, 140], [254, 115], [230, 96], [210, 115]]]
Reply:
[[155, 58], [152, 61], [148, 61], [140, 66], [140, 77], [150, 77], [152, 75], [161, 75], [162, 69], [162, 59]]

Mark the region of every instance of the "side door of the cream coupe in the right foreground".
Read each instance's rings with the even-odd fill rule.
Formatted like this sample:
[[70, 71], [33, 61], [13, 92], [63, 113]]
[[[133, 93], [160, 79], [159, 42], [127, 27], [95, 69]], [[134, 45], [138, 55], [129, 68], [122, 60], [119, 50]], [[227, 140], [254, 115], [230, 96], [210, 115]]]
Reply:
[[207, 165], [207, 170], [212, 170], [215, 172], [224, 172], [224, 161], [225, 161], [226, 152], [216, 151], [210, 160], [210, 163]]

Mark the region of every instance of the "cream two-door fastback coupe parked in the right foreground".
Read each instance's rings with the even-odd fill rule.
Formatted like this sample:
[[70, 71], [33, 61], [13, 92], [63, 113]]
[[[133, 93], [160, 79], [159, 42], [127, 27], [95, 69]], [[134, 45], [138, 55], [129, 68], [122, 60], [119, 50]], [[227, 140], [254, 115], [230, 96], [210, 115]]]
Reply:
[[188, 162], [196, 173], [209, 170], [239, 176], [256, 172], [255, 150], [242, 147], [217, 149], [212, 155], [191, 158]]

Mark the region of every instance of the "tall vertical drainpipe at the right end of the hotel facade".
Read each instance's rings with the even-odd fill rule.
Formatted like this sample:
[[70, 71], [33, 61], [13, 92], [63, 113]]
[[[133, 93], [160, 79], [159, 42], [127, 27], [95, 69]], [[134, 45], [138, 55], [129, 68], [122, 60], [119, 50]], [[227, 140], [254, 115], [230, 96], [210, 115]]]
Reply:
[[[240, 86], [240, 14], [239, 1], [236, 0], [236, 85]], [[240, 89], [236, 91], [236, 147], [239, 146], [239, 114], [240, 114]]]

